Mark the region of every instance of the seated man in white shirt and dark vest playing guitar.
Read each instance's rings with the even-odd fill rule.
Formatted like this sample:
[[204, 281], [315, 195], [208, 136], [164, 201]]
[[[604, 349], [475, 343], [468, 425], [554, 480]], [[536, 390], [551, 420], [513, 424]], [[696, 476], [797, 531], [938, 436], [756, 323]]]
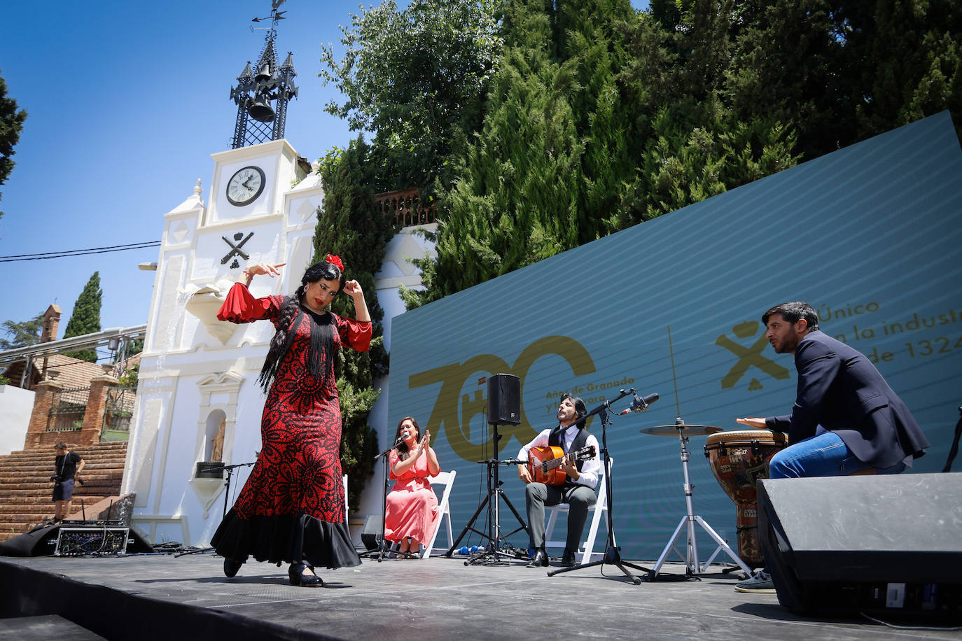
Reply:
[[601, 461], [598, 458], [598, 441], [594, 434], [584, 429], [583, 423], [575, 422], [588, 414], [585, 402], [581, 399], [565, 394], [558, 406], [558, 427], [542, 431], [534, 440], [522, 447], [518, 453], [519, 460], [528, 460], [528, 451], [535, 447], [560, 447], [564, 454], [575, 453], [586, 447], [594, 446], [594, 455], [586, 460], [560, 461], [559, 469], [566, 475], [561, 485], [546, 485], [535, 481], [525, 464], [519, 464], [518, 477], [526, 483], [524, 488], [524, 504], [528, 511], [528, 530], [530, 532], [530, 546], [535, 553], [525, 567], [537, 568], [547, 566], [547, 553], [544, 551], [544, 506], [567, 503], [568, 509], [568, 537], [565, 541], [565, 554], [561, 557], [561, 565], [574, 565], [574, 553], [578, 549], [581, 530], [584, 530], [585, 520], [588, 518], [588, 508], [595, 505], [595, 487], [598, 474], [601, 471]]

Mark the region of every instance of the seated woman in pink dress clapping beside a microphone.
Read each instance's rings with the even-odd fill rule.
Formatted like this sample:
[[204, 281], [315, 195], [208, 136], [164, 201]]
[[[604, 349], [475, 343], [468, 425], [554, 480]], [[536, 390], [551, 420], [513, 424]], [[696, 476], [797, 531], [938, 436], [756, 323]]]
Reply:
[[428, 477], [441, 472], [438, 456], [429, 447], [431, 431], [421, 438], [418, 421], [405, 416], [397, 424], [389, 463], [391, 478], [396, 479], [384, 518], [384, 538], [398, 543], [403, 555], [417, 555], [421, 543], [430, 541], [441, 514], [438, 497]]

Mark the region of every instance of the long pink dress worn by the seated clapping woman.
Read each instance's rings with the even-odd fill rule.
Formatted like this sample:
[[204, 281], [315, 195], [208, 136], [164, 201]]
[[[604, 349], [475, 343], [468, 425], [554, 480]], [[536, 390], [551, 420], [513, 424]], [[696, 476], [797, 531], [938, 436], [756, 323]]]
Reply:
[[[392, 450], [389, 459], [392, 470], [398, 460], [397, 451]], [[397, 542], [411, 536], [418, 543], [427, 545], [438, 527], [441, 513], [438, 509], [438, 497], [427, 480], [430, 476], [427, 460], [427, 452], [422, 452], [415, 464], [400, 477], [391, 473], [391, 478], [396, 481], [388, 494], [388, 510], [384, 519], [385, 539]]]

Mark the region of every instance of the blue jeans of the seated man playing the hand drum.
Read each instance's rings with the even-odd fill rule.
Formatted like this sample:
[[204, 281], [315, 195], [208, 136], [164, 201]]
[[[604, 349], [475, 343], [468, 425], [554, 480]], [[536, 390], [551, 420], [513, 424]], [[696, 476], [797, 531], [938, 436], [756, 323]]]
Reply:
[[[825, 431], [798, 441], [772, 456], [770, 479], [798, 479], [808, 477], [839, 477], [872, 467], [856, 458], [842, 437]], [[897, 463], [875, 474], [899, 474], [905, 463]]]

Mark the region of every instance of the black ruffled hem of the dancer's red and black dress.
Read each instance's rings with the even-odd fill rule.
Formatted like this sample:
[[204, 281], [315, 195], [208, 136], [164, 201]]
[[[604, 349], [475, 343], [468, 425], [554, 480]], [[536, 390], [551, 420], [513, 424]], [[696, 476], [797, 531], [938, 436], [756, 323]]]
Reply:
[[306, 514], [241, 519], [232, 508], [217, 527], [211, 545], [218, 555], [241, 563], [253, 556], [259, 561], [300, 561], [329, 570], [361, 564], [345, 523], [318, 521]]

